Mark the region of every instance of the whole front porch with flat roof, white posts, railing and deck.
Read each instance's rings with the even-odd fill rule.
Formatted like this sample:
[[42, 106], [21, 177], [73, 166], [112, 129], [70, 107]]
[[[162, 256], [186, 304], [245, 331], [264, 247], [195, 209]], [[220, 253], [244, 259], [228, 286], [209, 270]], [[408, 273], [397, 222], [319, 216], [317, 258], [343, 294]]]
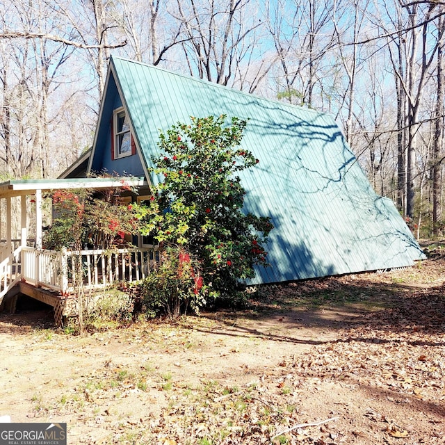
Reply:
[[[81, 261], [83, 290], [87, 292], [104, 289], [116, 282], [143, 280], [159, 262], [157, 248], [79, 252], [42, 247], [42, 192], [129, 186], [147, 187], [147, 183], [138, 178], [93, 178], [17, 180], [0, 184], [0, 210], [6, 209], [4, 215], [0, 214], [0, 304], [6, 296], [17, 298], [17, 293], [24, 293], [54, 307], [56, 324], [60, 325], [63, 316], [72, 315], [74, 310], [77, 261]], [[32, 212], [29, 211], [31, 205], [35, 205]], [[19, 221], [18, 227], [13, 227], [13, 216]], [[32, 239], [28, 237], [31, 225], [35, 232]], [[17, 237], [13, 238], [13, 231]]]

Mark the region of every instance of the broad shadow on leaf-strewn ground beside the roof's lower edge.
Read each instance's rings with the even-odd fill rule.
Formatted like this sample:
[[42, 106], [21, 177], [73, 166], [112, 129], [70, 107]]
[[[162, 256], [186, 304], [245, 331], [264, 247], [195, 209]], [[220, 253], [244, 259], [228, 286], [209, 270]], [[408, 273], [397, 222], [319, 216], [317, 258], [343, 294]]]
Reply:
[[[252, 296], [249, 309], [236, 312], [220, 310], [205, 316], [225, 325], [221, 334], [305, 344], [332, 341], [330, 336], [324, 338], [322, 334], [319, 339], [301, 339], [300, 333], [306, 328], [338, 332], [353, 327], [369, 327], [390, 334], [413, 329], [444, 334], [444, 291], [443, 285], [425, 288], [413, 284], [331, 277], [269, 287]], [[201, 329], [205, 332], [205, 328]], [[368, 340], [361, 337], [359, 341]], [[385, 339], [378, 341], [384, 342]], [[413, 346], [444, 344], [412, 341]]]

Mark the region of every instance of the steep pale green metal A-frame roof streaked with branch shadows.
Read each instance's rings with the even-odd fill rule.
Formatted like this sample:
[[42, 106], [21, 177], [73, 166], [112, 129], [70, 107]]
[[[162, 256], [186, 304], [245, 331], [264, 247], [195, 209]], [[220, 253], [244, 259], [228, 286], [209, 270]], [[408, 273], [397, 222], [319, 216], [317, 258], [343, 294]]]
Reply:
[[[249, 119], [241, 172], [245, 210], [270, 216], [270, 268], [252, 283], [412, 266], [423, 253], [394, 203], [376, 195], [330, 115], [113, 58], [122, 102], [147, 167], [159, 130], [190, 116]], [[152, 181], [156, 181], [152, 177]]]

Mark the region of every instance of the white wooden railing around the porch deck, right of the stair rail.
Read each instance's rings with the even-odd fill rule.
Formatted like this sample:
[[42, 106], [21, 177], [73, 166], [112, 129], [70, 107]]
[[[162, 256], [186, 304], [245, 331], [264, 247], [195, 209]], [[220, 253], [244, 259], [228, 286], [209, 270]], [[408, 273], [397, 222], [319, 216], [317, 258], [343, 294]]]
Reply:
[[76, 260], [82, 263], [84, 289], [97, 289], [115, 282], [143, 280], [159, 264], [158, 248], [118, 250], [38, 250], [22, 248], [22, 277], [35, 286], [63, 295], [74, 291]]

